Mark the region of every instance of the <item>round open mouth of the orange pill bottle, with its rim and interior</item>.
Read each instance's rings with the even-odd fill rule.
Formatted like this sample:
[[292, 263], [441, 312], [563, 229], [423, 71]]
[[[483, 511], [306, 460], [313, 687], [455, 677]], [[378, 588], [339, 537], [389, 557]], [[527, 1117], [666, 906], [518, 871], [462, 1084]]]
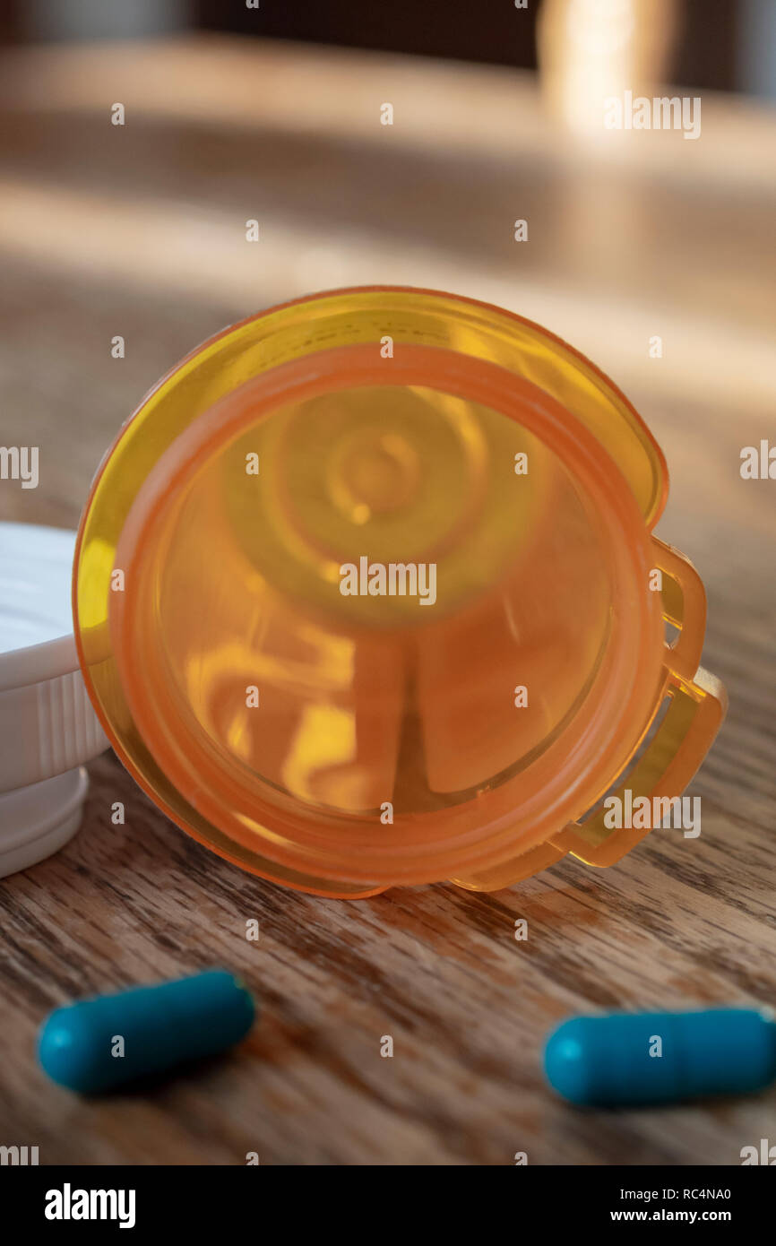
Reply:
[[638, 501], [568, 425], [498, 364], [356, 343], [162, 439], [91, 627], [108, 549], [83, 545], [76, 581], [146, 790], [222, 855], [331, 895], [494, 862], [587, 807], [649, 716], [661, 624]]

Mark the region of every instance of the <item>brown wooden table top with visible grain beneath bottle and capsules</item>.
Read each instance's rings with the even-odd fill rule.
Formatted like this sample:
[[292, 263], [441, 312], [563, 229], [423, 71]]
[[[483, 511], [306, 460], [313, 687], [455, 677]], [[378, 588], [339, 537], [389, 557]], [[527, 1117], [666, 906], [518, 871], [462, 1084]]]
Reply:
[[[698, 142], [613, 155], [554, 133], [506, 70], [212, 39], [14, 52], [0, 82], [0, 441], [41, 447], [0, 518], [75, 527], [118, 425], [223, 324], [338, 284], [452, 288], [546, 323], [643, 412], [671, 470], [659, 535], [704, 577], [704, 664], [730, 693], [698, 840], [656, 831], [609, 870], [568, 858], [493, 895], [283, 891], [103, 755], [76, 839], [0, 883], [0, 1143], [41, 1163], [737, 1164], [774, 1140], [774, 1090], [582, 1113], [541, 1074], [567, 1014], [776, 996], [776, 482], [739, 471], [776, 442], [774, 115], [704, 98]], [[51, 1008], [213, 964], [263, 1009], [233, 1055], [98, 1101], [45, 1082]]]

